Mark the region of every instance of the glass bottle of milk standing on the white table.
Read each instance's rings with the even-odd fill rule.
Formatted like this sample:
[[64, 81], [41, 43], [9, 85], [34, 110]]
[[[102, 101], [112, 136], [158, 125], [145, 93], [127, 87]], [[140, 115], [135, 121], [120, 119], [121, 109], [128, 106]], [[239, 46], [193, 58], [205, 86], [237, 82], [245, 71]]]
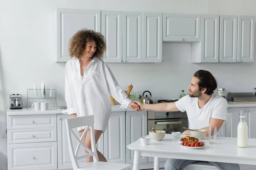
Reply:
[[247, 147], [248, 146], [248, 125], [246, 122], [246, 116], [239, 116], [240, 121], [237, 126], [237, 146]]

